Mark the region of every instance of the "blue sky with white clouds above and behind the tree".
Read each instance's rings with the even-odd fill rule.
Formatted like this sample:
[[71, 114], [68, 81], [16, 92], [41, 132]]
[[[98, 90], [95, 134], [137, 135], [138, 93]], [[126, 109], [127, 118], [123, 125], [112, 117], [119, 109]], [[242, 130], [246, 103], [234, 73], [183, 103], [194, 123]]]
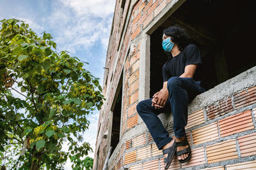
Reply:
[[[0, 20], [17, 18], [38, 34], [50, 33], [57, 51], [88, 62], [86, 69], [102, 85], [115, 0], [0, 0]], [[95, 150], [99, 111], [88, 116], [85, 141]], [[64, 147], [64, 150], [67, 147]], [[89, 153], [94, 157], [94, 153]], [[68, 160], [65, 169], [71, 169]]]

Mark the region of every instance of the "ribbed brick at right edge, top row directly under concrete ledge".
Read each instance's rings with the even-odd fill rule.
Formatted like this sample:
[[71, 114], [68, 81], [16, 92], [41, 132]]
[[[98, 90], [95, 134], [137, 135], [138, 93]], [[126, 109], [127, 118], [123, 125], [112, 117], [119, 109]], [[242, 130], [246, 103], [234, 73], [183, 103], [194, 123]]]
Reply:
[[234, 103], [236, 108], [256, 103], [256, 86], [235, 94]]

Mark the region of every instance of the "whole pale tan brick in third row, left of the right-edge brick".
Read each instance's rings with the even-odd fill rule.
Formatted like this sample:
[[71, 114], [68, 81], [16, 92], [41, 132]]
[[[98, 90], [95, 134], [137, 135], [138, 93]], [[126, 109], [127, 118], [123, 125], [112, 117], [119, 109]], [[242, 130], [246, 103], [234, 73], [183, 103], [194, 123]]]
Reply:
[[223, 160], [237, 159], [236, 139], [206, 146], [206, 154], [208, 164]]

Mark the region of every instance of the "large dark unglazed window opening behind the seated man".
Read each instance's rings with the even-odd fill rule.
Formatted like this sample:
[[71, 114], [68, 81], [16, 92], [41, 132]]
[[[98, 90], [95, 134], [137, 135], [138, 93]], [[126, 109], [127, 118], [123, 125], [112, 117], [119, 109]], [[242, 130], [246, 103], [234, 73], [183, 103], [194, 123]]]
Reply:
[[150, 35], [150, 97], [163, 85], [167, 55], [161, 46], [163, 29], [184, 28], [202, 53], [200, 73], [209, 89], [256, 66], [253, 1], [189, 0]]

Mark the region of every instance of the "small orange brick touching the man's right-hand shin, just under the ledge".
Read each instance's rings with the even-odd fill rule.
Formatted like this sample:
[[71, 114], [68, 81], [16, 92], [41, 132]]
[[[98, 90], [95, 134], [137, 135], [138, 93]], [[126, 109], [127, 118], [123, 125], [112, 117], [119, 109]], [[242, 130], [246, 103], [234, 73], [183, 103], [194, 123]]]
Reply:
[[193, 127], [195, 125], [200, 125], [204, 123], [204, 110], [197, 110], [188, 115], [188, 124], [186, 129]]

